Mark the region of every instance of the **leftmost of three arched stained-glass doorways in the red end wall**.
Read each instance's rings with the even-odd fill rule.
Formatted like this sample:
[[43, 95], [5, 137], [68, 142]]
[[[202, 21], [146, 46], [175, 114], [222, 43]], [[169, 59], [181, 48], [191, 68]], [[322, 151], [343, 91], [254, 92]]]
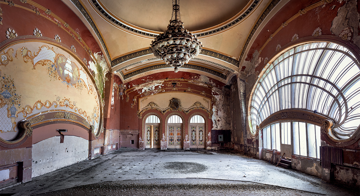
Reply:
[[150, 115], [145, 120], [145, 148], [160, 148], [160, 119]]

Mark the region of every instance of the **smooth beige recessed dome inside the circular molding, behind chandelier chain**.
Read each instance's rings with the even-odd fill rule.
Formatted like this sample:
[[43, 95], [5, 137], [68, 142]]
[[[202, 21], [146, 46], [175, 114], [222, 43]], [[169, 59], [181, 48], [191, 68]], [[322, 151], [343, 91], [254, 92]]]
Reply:
[[[181, 0], [181, 20], [193, 32], [225, 23], [246, 8], [250, 0]], [[164, 32], [172, 14], [171, 0], [99, 0], [113, 18], [130, 26]], [[211, 13], [211, 14], [209, 14]]]

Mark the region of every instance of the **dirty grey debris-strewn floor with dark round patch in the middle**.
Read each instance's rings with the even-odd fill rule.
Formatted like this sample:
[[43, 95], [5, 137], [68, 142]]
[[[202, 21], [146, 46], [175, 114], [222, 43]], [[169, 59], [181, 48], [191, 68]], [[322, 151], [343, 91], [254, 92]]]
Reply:
[[0, 195], [359, 195], [237, 153], [129, 150], [73, 164]]

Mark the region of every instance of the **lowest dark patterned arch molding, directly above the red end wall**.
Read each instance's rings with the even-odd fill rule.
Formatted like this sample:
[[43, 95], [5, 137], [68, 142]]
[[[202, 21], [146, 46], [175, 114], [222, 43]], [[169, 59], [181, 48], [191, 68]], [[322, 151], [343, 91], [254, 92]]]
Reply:
[[[140, 70], [137, 70], [137, 71], [134, 71], [134, 72], [131, 72], [131, 73], [128, 73], [126, 75], [123, 75], [123, 73], [120, 71], [120, 75], [124, 78], [124, 80], [130, 78], [130, 77], [133, 77], [133, 76], [136, 76], [136, 75], [139, 75], [141, 73], [144, 73], [144, 72], [147, 72], [147, 71], [153, 71], [153, 70], [158, 70], [158, 69], [162, 69], [162, 68], [171, 68], [171, 66], [169, 64], [158, 64], [158, 65], [153, 65], [153, 66], [150, 66], [150, 67], [146, 67], [146, 68], [143, 68], [143, 69], [140, 69]], [[201, 66], [197, 66], [197, 65], [192, 65], [192, 64], [184, 64], [183, 66], [181, 66], [181, 68], [188, 68], [188, 69], [193, 69], [193, 70], [199, 70], [199, 71], [203, 71], [203, 72], [207, 72], [207, 73], [210, 73], [214, 76], [217, 76], [217, 77], [220, 77], [222, 79], [226, 79], [226, 75], [220, 73], [220, 72], [217, 72], [217, 71], [213, 71], [213, 70], [210, 70], [208, 68], [205, 68], [205, 67], [201, 67]]]

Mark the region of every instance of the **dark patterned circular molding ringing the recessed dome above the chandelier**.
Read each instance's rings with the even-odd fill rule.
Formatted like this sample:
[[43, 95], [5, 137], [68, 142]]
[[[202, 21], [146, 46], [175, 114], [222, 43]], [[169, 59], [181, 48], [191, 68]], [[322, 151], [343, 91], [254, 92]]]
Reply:
[[[74, 0], [72, 0], [74, 1]], [[212, 34], [217, 34], [220, 33], [224, 30], [230, 29], [231, 27], [234, 27], [236, 24], [238, 24], [240, 21], [242, 21], [244, 18], [246, 18], [248, 16], [248, 14], [251, 13], [252, 10], [254, 10], [256, 8], [256, 6], [258, 5], [260, 0], [254, 0], [253, 3], [248, 7], [248, 9], [241, 15], [238, 16], [238, 18], [232, 20], [229, 23], [225, 23], [224, 25], [220, 26], [219, 28], [213, 29], [212, 30], [208, 30], [208, 31], [202, 31], [200, 30], [200, 33], [195, 33], [197, 35], [198, 38], [201, 37], [206, 37]], [[109, 15], [104, 8], [98, 3], [97, 0], [91, 0], [91, 3], [93, 3], [93, 6], [99, 11], [100, 14], [102, 14], [105, 18], [107, 18], [108, 20], [110, 20], [112, 23], [114, 23], [115, 25], [117, 25], [117, 27], [130, 32], [130, 33], [134, 33], [136, 35], [140, 35], [142, 37], [147, 37], [147, 38], [154, 38], [156, 37], [158, 34], [155, 33], [150, 33], [149, 31], [145, 31], [145, 30], [139, 30], [139, 29], [134, 29], [132, 27], [130, 27], [129, 25], [126, 25], [124, 23], [121, 23], [119, 20], [115, 19], [113, 16]], [[207, 29], [206, 29], [207, 30]], [[198, 32], [198, 31], [197, 31]]]

